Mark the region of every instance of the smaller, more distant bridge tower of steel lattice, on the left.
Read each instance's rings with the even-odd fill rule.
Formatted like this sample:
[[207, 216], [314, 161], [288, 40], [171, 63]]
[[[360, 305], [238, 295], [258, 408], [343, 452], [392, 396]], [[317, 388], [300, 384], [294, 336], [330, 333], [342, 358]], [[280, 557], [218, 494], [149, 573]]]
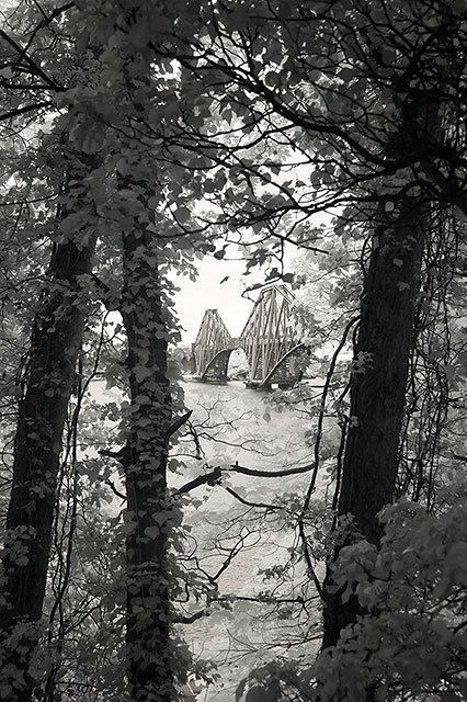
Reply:
[[232, 339], [217, 309], [206, 309], [193, 344], [196, 360], [196, 376], [200, 381], [227, 382], [227, 366], [238, 339]]

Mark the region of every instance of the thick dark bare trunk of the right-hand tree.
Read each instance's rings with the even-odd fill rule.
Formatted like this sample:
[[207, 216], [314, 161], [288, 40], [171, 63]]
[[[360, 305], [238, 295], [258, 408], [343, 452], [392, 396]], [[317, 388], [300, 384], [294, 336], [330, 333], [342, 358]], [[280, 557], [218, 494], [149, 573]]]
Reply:
[[[394, 499], [428, 211], [420, 196], [407, 195], [380, 215], [361, 302], [339, 514], [353, 518], [350, 539], [374, 544], [377, 514]], [[324, 647], [337, 644], [357, 613], [356, 598], [342, 602], [341, 592], [328, 592]]]

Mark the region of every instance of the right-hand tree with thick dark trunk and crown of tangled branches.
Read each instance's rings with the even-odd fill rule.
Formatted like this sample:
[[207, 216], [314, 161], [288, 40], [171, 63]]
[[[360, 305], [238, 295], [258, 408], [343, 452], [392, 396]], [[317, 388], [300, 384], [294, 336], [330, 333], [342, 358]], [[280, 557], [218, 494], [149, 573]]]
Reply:
[[[423, 1], [218, 3], [195, 58], [181, 58], [193, 70], [196, 118], [213, 105], [196, 77], [212, 94], [223, 87], [219, 113], [230, 139], [186, 117], [206, 151], [230, 168], [228, 218], [223, 213], [218, 224], [281, 225], [288, 240], [314, 247], [317, 233], [303, 223], [349, 205], [337, 236], [355, 218], [368, 237], [338, 510], [353, 520], [343, 544], [381, 535], [377, 516], [396, 494], [428, 233], [453, 207], [466, 212], [464, 12], [464, 3]], [[257, 138], [276, 145], [277, 157], [287, 149], [287, 158], [257, 160]], [[288, 177], [294, 162], [306, 178]], [[364, 610], [356, 597], [344, 602], [341, 591], [327, 591], [330, 646]], [[365, 694], [373, 699], [373, 684]]]

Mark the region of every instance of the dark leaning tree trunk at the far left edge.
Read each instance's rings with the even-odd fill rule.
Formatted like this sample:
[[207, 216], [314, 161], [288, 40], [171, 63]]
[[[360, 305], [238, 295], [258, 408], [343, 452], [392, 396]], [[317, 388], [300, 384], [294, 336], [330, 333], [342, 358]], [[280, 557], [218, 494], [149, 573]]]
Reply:
[[2, 699], [26, 702], [32, 695], [27, 669], [39, 636], [64, 426], [87, 314], [80, 276], [91, 272], [93, 251], [93, 240], [55, 247], [49, 290], [34, 319], [2, 561], [3, 678], [11, 667], [2, 680]]

